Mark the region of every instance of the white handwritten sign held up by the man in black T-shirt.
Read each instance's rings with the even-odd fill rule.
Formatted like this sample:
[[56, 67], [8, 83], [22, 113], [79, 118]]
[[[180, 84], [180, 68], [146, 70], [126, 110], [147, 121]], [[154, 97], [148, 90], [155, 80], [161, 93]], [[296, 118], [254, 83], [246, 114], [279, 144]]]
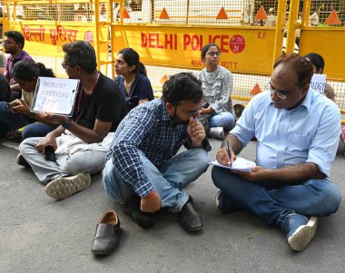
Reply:
[[31, 112], [72, 116], [79, 80], [38, 77]]

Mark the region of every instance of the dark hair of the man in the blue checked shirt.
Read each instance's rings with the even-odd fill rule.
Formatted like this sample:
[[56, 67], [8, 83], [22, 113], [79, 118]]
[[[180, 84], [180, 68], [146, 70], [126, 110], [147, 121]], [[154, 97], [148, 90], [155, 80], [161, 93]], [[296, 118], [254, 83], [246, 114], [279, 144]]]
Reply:
[[163, 84], [162, 99], [177, 106], [182, 101], [202, 101], [202, 83], [192, 73], [174, 74]]

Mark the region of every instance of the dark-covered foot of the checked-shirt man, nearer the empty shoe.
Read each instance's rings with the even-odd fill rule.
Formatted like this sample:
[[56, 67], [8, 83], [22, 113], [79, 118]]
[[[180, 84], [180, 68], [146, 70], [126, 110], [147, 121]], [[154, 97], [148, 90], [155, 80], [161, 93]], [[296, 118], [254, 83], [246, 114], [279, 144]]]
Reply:
[[151, 229], [154, 225], [152, 213], [140, 210], [140, 197], [135, 195], [130, 200], [123, 203], [123, 212], [133, 219], [139, 227], [143, 229]]

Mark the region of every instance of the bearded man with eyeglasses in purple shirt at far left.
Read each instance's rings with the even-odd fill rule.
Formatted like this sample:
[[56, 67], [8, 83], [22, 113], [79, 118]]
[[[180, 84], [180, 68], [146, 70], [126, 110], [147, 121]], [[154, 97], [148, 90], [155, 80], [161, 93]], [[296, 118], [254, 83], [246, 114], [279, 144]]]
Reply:
[[27, 54], [23, 48], [25, 45], [25, 39], [23, 34], [17, 31], [7, 31], [5, 32], [5, 53], [10, 54], [5, 63], [5, 78], [10, 84], [11, 91], [13, 93], [13, 99], [19, 98], [21, 96], [21, 89], [18, 83], [15, 83], [15, 79], [12, 77], [12, 71], [15, 63], [19, 61], [27, 61], [34, 63], [33, 58]]

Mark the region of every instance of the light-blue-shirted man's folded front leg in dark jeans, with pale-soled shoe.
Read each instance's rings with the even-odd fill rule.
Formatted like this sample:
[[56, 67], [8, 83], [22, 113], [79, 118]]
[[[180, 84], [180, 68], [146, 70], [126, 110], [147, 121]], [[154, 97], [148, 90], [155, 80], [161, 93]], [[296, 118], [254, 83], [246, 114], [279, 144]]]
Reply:
[[[266, 224], [276, 225], [286, 235], [291, 249], [301, 251], [313, 239], [317, 219], [296, 213], [291, 208], [281, 205], [261, 185], [243, 179], [231, 171], [213, 167], [212, 180], [222, 190], [222, 203], [232, 204], [237, 208], [251, 210]], [[225, 200], [225, 201], [224, 201]], [[295, 200], [294, 200], [295, 201]], [[229, 210], [229, 208], [226, 208]]]

